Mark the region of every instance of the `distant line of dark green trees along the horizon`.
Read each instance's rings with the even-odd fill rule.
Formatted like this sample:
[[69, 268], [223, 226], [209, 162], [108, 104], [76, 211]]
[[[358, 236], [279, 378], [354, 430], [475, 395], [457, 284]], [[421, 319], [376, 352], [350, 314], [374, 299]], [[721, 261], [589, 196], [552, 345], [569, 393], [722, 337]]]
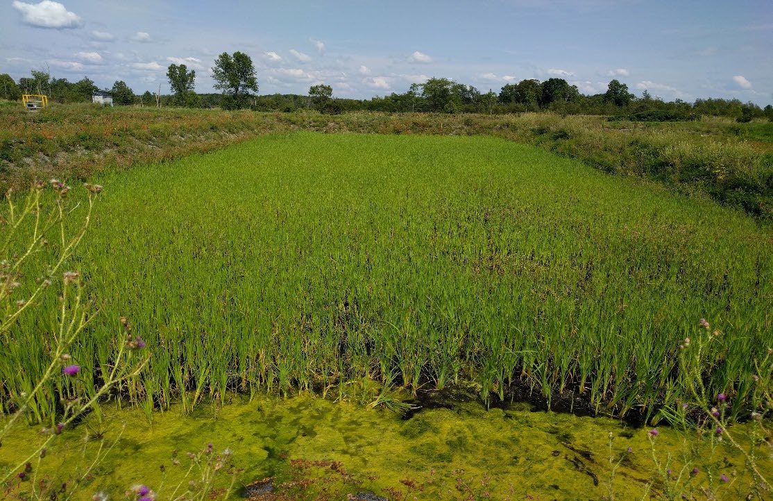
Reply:
[[[192, 87], [191, 73], [189, 77]], [[69, 82], [66, 78], [54, 78], [42, 71], [32, 71], [31, 77], [22, 77], [17, 82], [7, 73], [0, 74], [0, 97], [7, 100], [19, 100], [23, 93], [46, 94], [50, 101], [56, 103], [83, 103], [90, 102], [97, 90], [100, 89], [88, 77]], [[424, 83], [414, 83], [402, 94], [392, 93], [363, 100], [333, 97], [331, 87], [324, 84], [312, 86], [308, 95], [244, 94], [239, 101], [234, 101], [226, 92], [196, 94], [192, 90], [182, 98], [179, 94], [171, 94], [160, 95], [157, 100], [157, 96], [150, 91], [135, 94], [121, 80], [104, 90], [112, 94], [114, 104], [122, 106], [243, 107], [254, 111], [281, 112], [315, 108], [326, 114], [352, 111], [482, 114], [553, 111], [559, 114], [598, 114], [633, 121], [686, 121], [696, 120], [703, 115], [724, 116], [740, 122], [754, 118], [773, 121], [773, 106], [770, 104], [763, 108], [752, 102], [721, 98], [696, 99], [692, 103], [680, 99], [664, 101], [651, 96], [646, 90], [642, 97], [637, 97], [628, 91], [625, 83], [618, 80], [611, 80], [603, 94], [590, 96], [581, 94], [576, 86], [561, 78], [550, 78], [543, 82], [526, 79], [519, 83], [509, 83], [499, 92], [489, 90], [485, 93], [472, 85], [446, 78], [431, 78]]]

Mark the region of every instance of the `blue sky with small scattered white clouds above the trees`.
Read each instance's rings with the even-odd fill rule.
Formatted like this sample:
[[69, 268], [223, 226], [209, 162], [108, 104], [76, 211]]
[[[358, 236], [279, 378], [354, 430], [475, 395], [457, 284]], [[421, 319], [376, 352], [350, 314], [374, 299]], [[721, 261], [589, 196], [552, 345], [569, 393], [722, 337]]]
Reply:
[[166, 67], [186, 63], [209, 92], [217, 54], [241, 50], [261, 94], [563, 77], [584, 94], [617, 78], [666, 100], [773, 102], [770, 0], [0, 1], [0, 73], [15, 79], [47, 64], [55, 77], [163, 93]]

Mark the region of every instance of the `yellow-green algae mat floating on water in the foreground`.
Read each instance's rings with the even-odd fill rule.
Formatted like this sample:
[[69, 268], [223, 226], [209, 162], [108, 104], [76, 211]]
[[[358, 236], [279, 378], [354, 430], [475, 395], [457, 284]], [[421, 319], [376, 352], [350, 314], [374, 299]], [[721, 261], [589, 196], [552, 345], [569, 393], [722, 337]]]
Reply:
[[[607, 418], [517, 408], [486, 410], [470, 402], [453, 409], [419, 411], [404, 419], [313, 394], [287, 399], [261, 396], [252, 401], [232, 396], [230, 400], [220, 408], [199, 407], [192, 416], [172, 407], [157, 414], [153, 424], [138, 409], [105, 408], [110, 424], [101, 428], [90, 416], [66, 431], [65, 439], [36, 465], [37, 478], [57, 485], [68, 481], [87, 465], [83, 450], [94, 452], [102, 443], [94, 436], [99, 433], [104, 448], [114, 447], [83, 486], [84, 499], [94, 492], [123, 498], [136, 484], [150, 486], [166, 499], [187, 469], [185, 453], [206, 449], [209, 442], [215, 452], [224, 448], [233, 452], [234, 498], [255, 480], [274, 477], [280, 485], [291, 477], [291, 460], [339, 462], [333, 469], [346, 473], [325, 483], [324, 468], [307, 470], [313, 481], [301, 494], [294, 491], [298, 499], [344, 499], [346, 493], [362, 491], [390, 499], [601, 499], [609, 495], [610, 485], [617, 499], [642, 499], [659, 497], [664, 486], [653, 463], [649, 430]], [[117, 438], [121, 424], [125, 428]], [[90, 441], [83, 441], [87, 434], [92, 435]], [[22, 452], [35, 441], [29, 428], [20, 427], [3, 444], [0, 469], [21, 460]], [[700, 442], [690, 433], [661, 429], [654, 443], [655, 458], [664, 469], [671, 455], [668, 468], [676, 477], [683, 466], [679, 458]], [[181, 465], [172, 462], [175, 449]], [[684, 492], [690, 499], [702, 499], [704, 486], [717, 489], [722, 499], [746, 495], [749, 484], [740, 473], [742, 458], [729, 455], [721, 445], [705, 446], [698, 455], [690, 468], [697, 467], [700, 473], [682, 480], [687, 479]], [[612, 465], [620, 459], [611, 479]], [[761, 465], [773, 469], [770, 458]], [[721, 482], [723, 474], [729, 482]], [[220, 483], [227, 486], [230, 475], [221, 476]], [[15, 480], [7, 494], [25, 497], [29, 484]], [[324, 497], [331, 492], [341, 496]]]

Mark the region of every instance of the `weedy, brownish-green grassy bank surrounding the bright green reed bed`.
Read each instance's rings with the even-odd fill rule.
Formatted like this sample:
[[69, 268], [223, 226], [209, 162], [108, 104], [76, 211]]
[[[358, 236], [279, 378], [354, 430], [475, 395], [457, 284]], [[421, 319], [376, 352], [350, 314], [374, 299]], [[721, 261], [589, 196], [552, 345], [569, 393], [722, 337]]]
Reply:
[[773, 124], [609, 122], [554, 114], [448, 115], [255, 113], [52, 106], [0, 107], [0, 181], [86, 179], [206, 152], [267, 132], [496, 135], [577, 158], [604, 172], [642, 176], [708, 195], [763, 219], [773, 216]]

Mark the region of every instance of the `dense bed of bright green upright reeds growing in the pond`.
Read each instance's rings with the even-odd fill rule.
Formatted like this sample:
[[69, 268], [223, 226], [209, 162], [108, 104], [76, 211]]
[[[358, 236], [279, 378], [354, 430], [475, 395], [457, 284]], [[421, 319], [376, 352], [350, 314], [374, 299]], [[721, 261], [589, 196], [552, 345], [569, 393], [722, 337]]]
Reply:
[[[700, 342], [701, 317], [717, 332], [690, 352], [708, 394], [733, 417], [764, 404], [773, 235], [708, 200], [481, 137], [268, 135], [97, 180], [72, 265], [104, 313], [72, 355], [89, 391], [127, 316], [153, 356], [124, 390], [148, 415], [373, 377], [652, 417], [693, 400], [679, 345]], [[7, 401], [46, 359], [36, 332], [56, 304], [0, 353]]]

